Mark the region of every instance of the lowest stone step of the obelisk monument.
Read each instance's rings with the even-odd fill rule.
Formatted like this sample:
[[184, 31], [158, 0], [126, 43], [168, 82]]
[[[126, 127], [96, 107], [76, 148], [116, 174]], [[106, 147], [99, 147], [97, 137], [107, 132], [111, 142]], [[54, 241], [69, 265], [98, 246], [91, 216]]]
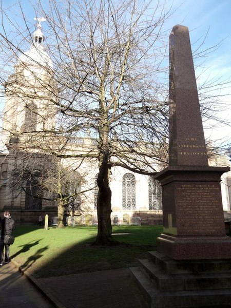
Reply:
[[[230, 307], [231, 289], [197, 291], [160, 291], [141, 271], [131, 267], [130, 273], [138, 284], [150, 308], [226, 308]], [[172, 280], [174, 284], [174, 280]]]

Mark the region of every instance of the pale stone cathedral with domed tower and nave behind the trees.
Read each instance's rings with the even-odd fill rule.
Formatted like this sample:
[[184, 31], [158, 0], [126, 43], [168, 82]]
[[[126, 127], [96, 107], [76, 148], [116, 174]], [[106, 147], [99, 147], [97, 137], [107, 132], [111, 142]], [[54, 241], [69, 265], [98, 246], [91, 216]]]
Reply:
[[[57, 216], [57, 201], [52, 199], [52, 191], [39, 194], [41, 169], [52, 169], [53, 159], [50, 153], [53, 146], [65, 143], [67, 152], [85, 152], [94, 148], [94, 140], [89, 137], [66, 140], [65, 136], [54, 139], [49, 131], [56, 124], [57, 88], [53, 80], [53, 64], [44, 48], [44, 34], [41, 20], [33, 33], [29, 51], [23, 53], [5, 84], [5, 108], [0, 154], [0, 210], [10, 210], [17, 223], [36, 223], [42, 213]], [[52, 90], [51, 90], [52, 89]], [[46, 133], [48, 132], [48, 133]], [[45, 137], [44, 137], [45, 136]], [[44, 142], [44, 149], [36, 147]], [[25, 147], [29, 149], [25, 152]], [[215, 161], [212, 164], [218, 164]], [[229, 162], [228, 162], [229, 163]], [[28, 172], [27, 164], [33, 165], [33, 175], [24, 179]], [[76, 216], [76, 221], [85, 223], [97, 221], [97, 163], [80, 161], [71, 157], [59, 160], [61, 169], [71, 166], [75, 176], [67, 180], [70, 190], [73, 180], [78, 182], [75, 192], [83, 192], [69, 202], [65, 216]], [[227, 164], [227, 160], [224, 162]], [[161, 170], [163, 166], [157, 166]], [[59, 168], [55, 166], [57, 171]], [[17, 172], [15, 172], [17, 170]], [[45, 170], [47, 172], [47, 170]], [[48, 174], [47, 172], [46, 174]], [[222, 179], [222, 198], [226, 216], [230, 213], [231, 177], [225, 174]], [[15, 189], [13, 184], [25, 182], [23, 189]], [[43, 179], [45, 181], [45, 178]], [[71, 182], [72, 181], [72, 182]], [[76, 182], [75, 181], [75, 182]], [[51, 182], [49, 182], [48, 185]], [[72, 183], [72, 184], [71, 184]], [[43, 183], [44, 184], [44, 183]], [[16, 184], [15, 184], [16, 185]], [[112, 221], [117, 223], [162, 223], [161, 187], [157, 180], [128, 171], [122, 167], [112, 167], [110, 175], [112, 190]], [[73, 191], [72, 191], [73, 192]], [[72, 194], [72, 192], [70, 192]], [[74, 194], [73, 194], [74, 195]]]

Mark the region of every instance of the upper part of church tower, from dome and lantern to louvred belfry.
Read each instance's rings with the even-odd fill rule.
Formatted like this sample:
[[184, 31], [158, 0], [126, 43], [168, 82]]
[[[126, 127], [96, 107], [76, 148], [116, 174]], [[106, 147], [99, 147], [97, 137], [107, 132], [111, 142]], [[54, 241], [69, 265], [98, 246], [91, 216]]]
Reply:
[[8, 144], [11, 138], [25, 136], [25, 133], [52, 130], [55, 125], [53, 64], [44, 48], [45, 36], [41, 26], [45, 18], [36, 20], [38, 24], [30, 49], [18, 58], [15, 72], [5, 84], [4, 144]]

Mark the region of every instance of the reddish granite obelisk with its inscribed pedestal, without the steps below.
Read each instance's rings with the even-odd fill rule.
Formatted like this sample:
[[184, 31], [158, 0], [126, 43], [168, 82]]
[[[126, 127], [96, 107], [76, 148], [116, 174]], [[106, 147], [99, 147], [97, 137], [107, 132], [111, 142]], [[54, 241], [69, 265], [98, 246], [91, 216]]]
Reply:
[[176, 260], [231, 259], [220, 177], [209, 167], [188, 28], [169, 37], [169, 166], [162, 184], [164, 233], [158, 251]]

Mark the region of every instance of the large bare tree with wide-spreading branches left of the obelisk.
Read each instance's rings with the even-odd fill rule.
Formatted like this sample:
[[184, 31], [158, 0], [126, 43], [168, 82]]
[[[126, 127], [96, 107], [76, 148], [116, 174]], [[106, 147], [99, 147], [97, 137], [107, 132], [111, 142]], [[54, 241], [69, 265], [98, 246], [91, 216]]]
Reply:
[[[27, 134], [27, 143], [21, 144], [24, 150], [37, 148], [98, 164], [95, 243], [113, 244], [110, 168], [154, 175], [168, 161], [167, 85], [162, 82], [168, 33], [162, 27], [170, 12], [159, 3], [150, 8], [150, 2], [136, 0], [50, 0], [49, 8], [40, 2], [36, 8], [46, 18], [46, 48], [53, 67], [36, 63], [48, 73], [46, 82], [34, 74], [46, 91], [31, 91], [29, 97], [44, 99], [49, 93], [46, 100], [55, 106], [56, 124], [36, 130], [30, 138]], [[24, 22], [26, 32], [19, 29], [16, 42], [8, 33], [1, 34], [5, 63], [20, 57], [22, 42], [32, 37], [25, 17]], [[28, 99], [28, 93], [24, 95]], [[17, 134], [22, 139], [25, 132]], [[69, 146], [86, 136], [92, 143], [84, 150]]]

